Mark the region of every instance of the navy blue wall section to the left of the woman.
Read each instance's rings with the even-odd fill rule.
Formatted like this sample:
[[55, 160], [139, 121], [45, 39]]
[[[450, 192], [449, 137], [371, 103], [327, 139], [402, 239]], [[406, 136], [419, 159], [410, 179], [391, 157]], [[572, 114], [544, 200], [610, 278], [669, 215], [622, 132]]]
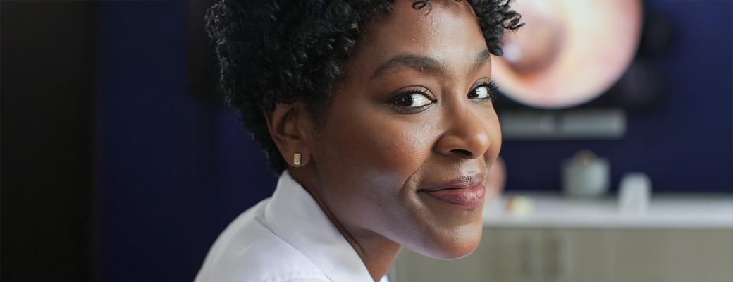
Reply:
[[101, 6], [97, 275], [192, 281], [276, 177], [234, 114], [188, 93], [184, 1]]

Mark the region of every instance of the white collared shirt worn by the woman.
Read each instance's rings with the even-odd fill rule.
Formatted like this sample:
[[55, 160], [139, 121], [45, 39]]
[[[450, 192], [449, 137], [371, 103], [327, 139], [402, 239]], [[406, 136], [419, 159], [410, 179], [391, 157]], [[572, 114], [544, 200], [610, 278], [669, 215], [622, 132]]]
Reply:
[[[373, 282], [358, 254], [288, 171], [273, 196], [219, 235], [194, 282]], [[386, 275], [380, 282], [388, 282]]]

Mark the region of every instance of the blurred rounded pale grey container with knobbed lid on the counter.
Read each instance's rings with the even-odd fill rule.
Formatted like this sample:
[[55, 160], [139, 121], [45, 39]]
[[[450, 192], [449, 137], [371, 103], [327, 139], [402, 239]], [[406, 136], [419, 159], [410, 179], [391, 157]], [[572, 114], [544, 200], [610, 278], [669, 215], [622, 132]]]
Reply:
[[562, 166], [562, 191], [573, 197], [598, 197], [611, 186], [611, 165], [589, 150], [575, 153]]

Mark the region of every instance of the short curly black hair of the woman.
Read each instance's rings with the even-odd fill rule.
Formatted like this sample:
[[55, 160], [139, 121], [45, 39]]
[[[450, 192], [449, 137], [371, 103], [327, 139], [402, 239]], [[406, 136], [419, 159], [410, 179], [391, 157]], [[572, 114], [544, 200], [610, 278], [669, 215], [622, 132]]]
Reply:
[[[265, 149], [270, 168], [281, 174], [287, 163], [262, 111], [303, 99], [318, 124], [359, 31], [375, 15], [391, 12], [394, 0], [254, 1], [218, 1], [207, 12], [206, 31], [216, 42], [226, 103]], [[432, 9], [430, 1], [410, 1], [416, 10]], [[501, 56], [504, 29], [524, 24], [510, 9], [511, 0], [465, 1], [474, 8], [489, 51]]]

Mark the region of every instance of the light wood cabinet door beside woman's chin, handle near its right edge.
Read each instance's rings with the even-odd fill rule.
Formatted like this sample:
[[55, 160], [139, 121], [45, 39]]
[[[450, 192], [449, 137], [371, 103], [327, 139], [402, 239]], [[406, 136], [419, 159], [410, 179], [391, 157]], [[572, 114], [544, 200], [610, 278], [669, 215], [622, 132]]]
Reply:
[[403, 250], [395, 263], [397, 282], [542, 281], [542, 232], [484, 229], [474, 253], [450, 261]]

